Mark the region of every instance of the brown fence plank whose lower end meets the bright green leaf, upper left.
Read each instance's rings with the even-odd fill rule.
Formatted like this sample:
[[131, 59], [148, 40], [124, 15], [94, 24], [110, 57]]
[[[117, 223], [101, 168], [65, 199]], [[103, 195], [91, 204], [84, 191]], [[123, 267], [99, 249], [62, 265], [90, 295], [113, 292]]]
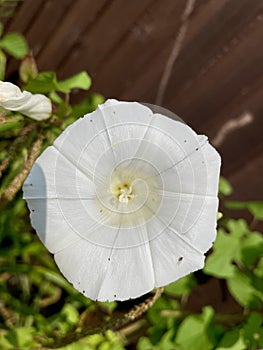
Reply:
[[[153, 0], [133, 0], [125, 3], [116, 0], [97, 19], [96, 25], [85, 32], [83, 39], [61, 64], [60, 71], [71, 75], [77, 69], [86, 69], [96, 75], [114, 47], [118, 47], [122, 37], [131, 29], [137, 17], [144, 12]], [[121, 11], [120, 11], [121, 9]]]

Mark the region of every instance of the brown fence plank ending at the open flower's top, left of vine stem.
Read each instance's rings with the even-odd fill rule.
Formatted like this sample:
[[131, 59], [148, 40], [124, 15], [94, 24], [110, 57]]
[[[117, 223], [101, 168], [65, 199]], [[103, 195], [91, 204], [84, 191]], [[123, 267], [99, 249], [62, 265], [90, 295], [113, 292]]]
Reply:
[[106, 96], [120, 95], [149, 60], [162, 50], [166, 41], [173, 37], [179, 27], [184, 5], [184, 1], [166, 0], [165, 6], [163, 2], [154, 2], [122, 39], [118, 48], [105, 59], [95, 77], [94, 89]]

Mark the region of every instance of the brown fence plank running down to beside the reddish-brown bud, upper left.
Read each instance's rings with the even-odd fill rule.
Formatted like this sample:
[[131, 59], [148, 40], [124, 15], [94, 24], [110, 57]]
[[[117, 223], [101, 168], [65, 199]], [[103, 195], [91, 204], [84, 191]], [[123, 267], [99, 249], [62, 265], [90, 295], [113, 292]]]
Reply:
[[82, 41], [87, 28], [94, 23], [106, 0], [75, 0], [39, 55], [38, 64], [43, 70], [56, 70], [77, 42]]

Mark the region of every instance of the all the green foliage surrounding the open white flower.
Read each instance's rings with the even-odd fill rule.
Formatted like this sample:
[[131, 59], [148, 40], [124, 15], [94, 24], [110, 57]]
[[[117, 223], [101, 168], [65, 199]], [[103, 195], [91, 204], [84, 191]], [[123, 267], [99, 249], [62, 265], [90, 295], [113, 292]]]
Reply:
[[[4, 78], [8, 54], [22, 58], [28, 48], [18, 34], [2, 37], [0, 48], [0, 77]], [[58, 81], [55, 72], [38, 72], [30, 55], [23, 58], [19, 76], [22, 89], [52, 100], [53, 114], [39, 123], [19, 113], [0, 111], [0, 349], [122, 350], [134, 344], [138, 350], [263, 348], [262, 233], [243, 219], [227, 217], [224, 203], [217, 239], [203, 271], [166, 286], [141, 320], [128, 327], [116, 327], [113, 322], [110, 328], [117, 333], [102, 332], [105, 324], [123, 316], [122, 305], [92, 302], [64, 279], [31, 227], [20, 188], [35, 142], [41, 140], [42, 152], [104, 98], [87, 93], [80, 103], [71, 104], [73, 89], [90, 88], [88, 74], [80, 72]], [[219, 192], [222, 199], [232, 194], [224, 178]], [[263, 219], [263, 202], [227, 201], [225, 205], [248, 210], [253, 224]], [[221, 313], [218, 305], [206, 305], [211, 301], [205, 289], [210, 282], [224, 286], [224, 297], [232, 300], [235, 313]], [[194, 308], [193, 300], [200, 295], [203, 305]]]

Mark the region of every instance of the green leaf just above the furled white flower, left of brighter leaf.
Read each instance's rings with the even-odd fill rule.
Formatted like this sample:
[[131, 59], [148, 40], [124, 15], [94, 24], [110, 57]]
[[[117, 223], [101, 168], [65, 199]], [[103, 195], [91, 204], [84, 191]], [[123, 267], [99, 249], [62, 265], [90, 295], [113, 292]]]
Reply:
[[56, 74], [52, 71], [42, 72], [30, 80], [24, 90], [34, 94], [46, 94], [58, 90]]

